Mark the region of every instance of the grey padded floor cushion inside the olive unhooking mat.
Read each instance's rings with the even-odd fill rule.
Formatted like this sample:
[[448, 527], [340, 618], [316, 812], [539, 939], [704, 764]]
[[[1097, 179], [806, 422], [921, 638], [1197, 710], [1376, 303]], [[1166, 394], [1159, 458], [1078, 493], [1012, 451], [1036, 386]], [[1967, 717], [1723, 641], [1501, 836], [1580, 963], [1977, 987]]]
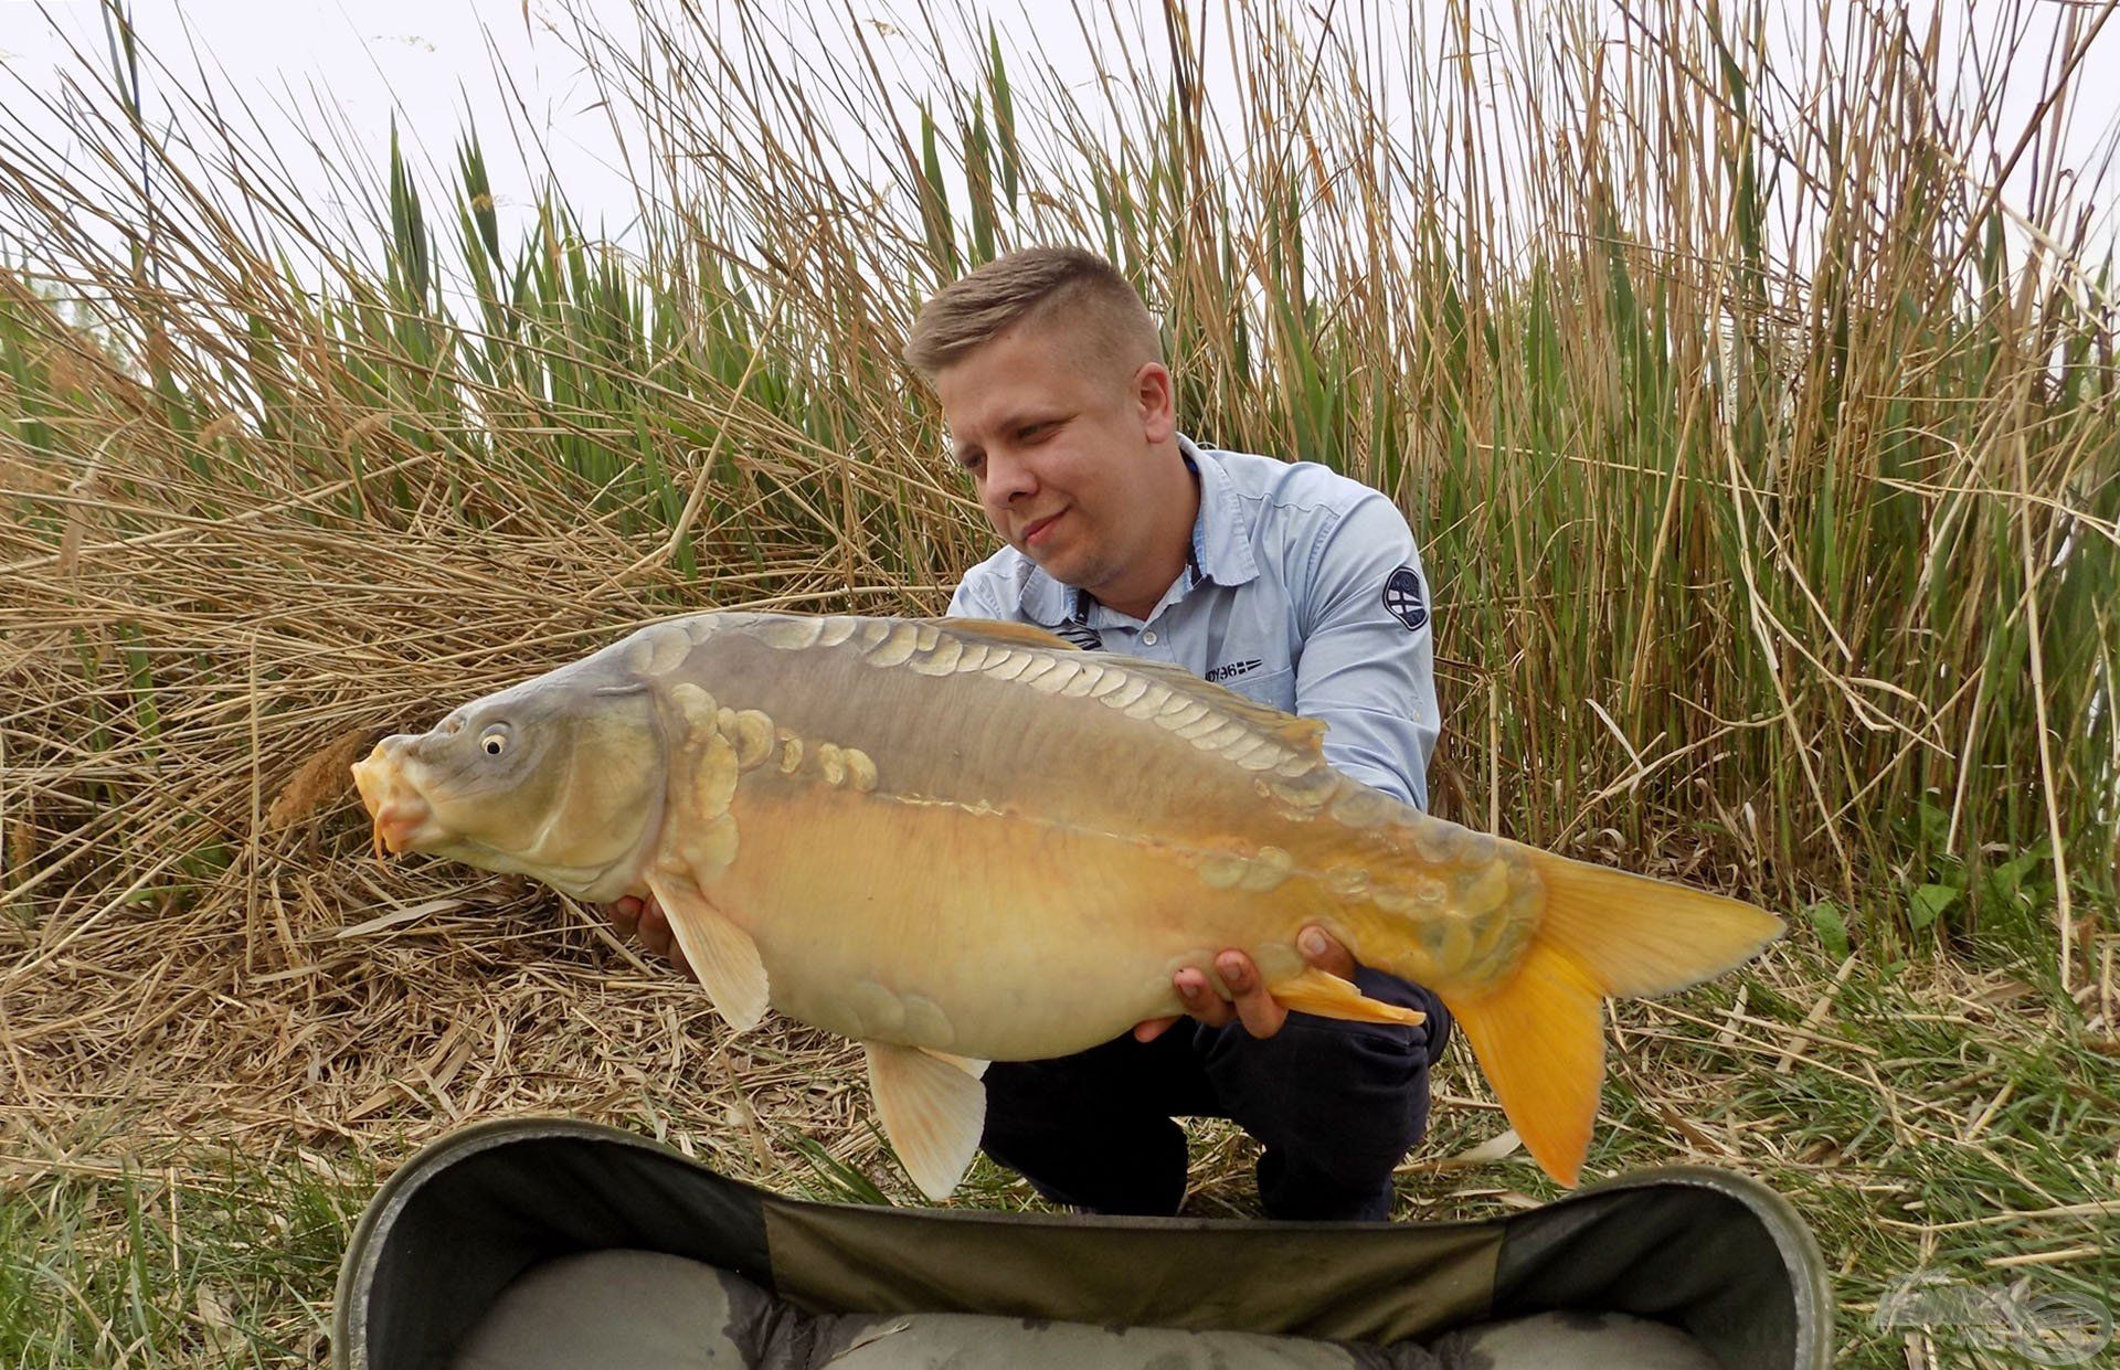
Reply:
[[740, 1275], [657, 1251], [538, 1264], [473, 1325], [452, 1370], [1715, 1370], [1690, 1336], [1618, 1313], [1541, 1313], [1433, 1347], [1098, 1328], [971, 1313], [808, 1315]]

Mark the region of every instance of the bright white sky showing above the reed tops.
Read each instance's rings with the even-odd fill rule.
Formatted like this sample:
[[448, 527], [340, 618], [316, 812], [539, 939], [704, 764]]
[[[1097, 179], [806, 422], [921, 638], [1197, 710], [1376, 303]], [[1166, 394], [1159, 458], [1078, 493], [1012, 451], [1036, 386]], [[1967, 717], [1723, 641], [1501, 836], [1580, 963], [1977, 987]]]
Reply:
[[[672, 4], [674, 0], [661, 0]], [[727, 0], [693, 0], [710, 15], [727, 21]], [[837, 0], [842, 8], [831, 8], [833, 0], [816, 6], [787, 4], [787, 0], [761, 0], [757, 8], [776, 15], [791, 15], [787, 28], [791, 45], [816, 53], [835, 51], [842, 57], [850, 51], [846, 32], [861, 23], [876, 49], [916, 59], [929, 45], [918, 38], [922, 19], [920, 6], [905, 0]], [[1096, 15], [1107, 13], [1100, 0], [1092, 0]], [[1923, 0], [1910, 4], [1910, 19], [1916, 30], [1927, 15], [1942, 4], [1946, 17], [1946, 53], [1957, 36], [1967, 28], [1993, 28], [1995, 15], [2010, 6], [1995, 0]], [[1838, 0], [1836, 0], [1838, 4]], [[625, 0], [581, 0], [579, 11], [594, 13], [596, 21], [619, 42], [634, 32], [632, 6]], [[808, 13], [823, 11], [820, 21], [833, 32], [810, 30]], [[1117, 36], [1100, 45], [1102, 62], [1111, 66], [1113, 53], [1132, 49], [1134, 59], [1158, 76], [1168, 70], [1162, 40], [1162, 0], [1117, 0], [1119, 23], [1132, 17], [1134, 34]], [[1219, 0], [1189, 0], [1194, 13], [1217, 15]], [[1287, 4], [1291, 19], [1312, 23], [1306, 15], [1331, 8], [1327, 0], [1310, 4]], [[1480, 0], [1480, 11], [1488, 8]], [[1501, 19], [1499, 30], [1514, 30], [1507, 0], [1495, 6]], [[1607, 32], [1618, 36], [1626, 30], [1622, 6], [1605, 11]], [[1637, 4], [1632, 8], [1654, 8]], [[1732, 6], [1743, 8], [1743, 6]], [[1844, 4], [1838, 4], [1844, 8]], [[2033, 15], [2042, 25], [2061, 23], [2069, 13], [2082, 17], [2086, 6], [2063, 0], [2035, 0]], [[1395, 49], [1397, 76], [1378, 85], [1378, 102], [1399, 127], [1406, 123], [1406, 76], [1408, 53], [1435, 53], [1446, 42], [1442, 0], [1397, 0], [1365, 2], [1344, 0], [1333, 8], [1336, 21], [1346, 28], [1353, 11], [1357, 28], [1367, 21], [1391, 34], [1386, 47]], [[1777, 40], [1785, 45], [1817, 42], [1817, 23], [1808, 15], [1813, 4], [1791, 4], [1777, 11], [1777, 21], [1787, 25]], [[1020, 4], [996, 4], [986, 17], [1003, 34], [1003, 49], [1009, 55], [1011, 74], [1024, 78], [1028, 57], [1052, 64], [1068, 83], [1090, 83], [1096, 62], [1092, 59], [1077, 17], [1071, 6], [1045, 0], [1039, 6], [1041, 19], [1032, 23]], [[441, 168], [437, 180], [454, 180], [447, 174], [454, 144], [466, 115], [475, 119], [488, 161], [494, 170], [494, 191], [502, 208], [502, 246], [507, 250], [519, 238], [522, 208], [534, 193], [543, 168], [526, 172], [513, 159], [513, 138], [509, 134], [509, 104], [502, 93], [498, 70], [515, 85], [532, 127], [547, 144], [553, 170], [566, 187], [566, 195], [581, 212], [585, 225], [596, 231], [598, 223], [623, 238], [623, 227], [632, 218], [632, 187], [617, 163], [611, 110], [594, 108], [594, 81], [583, 72], [579, 57], [568, 51], [562, 34], [572, 30], [566, 8], [558, 0], [136, 0], [134, 21], [148, 51], [174, 66], [187, 85], [199, 85], [189, 74], [191, 53], [197, 51], [208, 70], [220, 70], [212, 85], [223, 110], [235, 102], [246, 102], [257, 112], [276, 148], [286, 159], [290, 174], [303, 191], [303, 201], [335, 210], [337, 193], [316, 172], [314, 155], [307, 153], [303, 136], [295, 127], [320, 129], [331, 119], [343, 121], [352, 140], [350, 153], [333, 153], [337, 165], [352, 165], [369, 174], [369, 185], [379, 185], [379, 168], [386, 165], [390, 117], [396, 112], [399, 129], [416, 161]], [[1221, 38], [1219, 21], [1208, 19], [1213, 40]], [[897, 30], [897, 34], [893, 34]], [[1418, 30], [1420, 36], [1408, 36]], [[1314, 32], [1314, 28], [1312, 28]], [[1827, 28], [1825, 32], [1832, 32]], [[55, 87], [53, 72], [72, 66], [66, 42], [78, 45], [98, 70], [108, 66], [108, 45], [104, 36], [102, 11], [93, 0], [59, 0], [57, 4], [32, 4], [25, 0], [0, 0], [0, 104], [23, 117], [38, 134], [66, 146], [66, 127], [28, 108], [19, 91], [11, 89], [8, 76], [32, 89]], [[1213, 66], [1211, 42], [1211, 66]], [[2107, 25], [2099, 40], [2097, 59], [2105, 72], [2120, 72], [2120, 19]], [[1124, 62], [1124, 59], [1121, 59]], [[2031, 112], [2037, 72], [2044, 66], [2044, 42], [2022, 42], [2012, 57], [2012, 87], [2006, 91], [2006, 129], [2014, 131]], [[1124, 66], [1119, 68], [1124, 70]], [[1215, 72], [1211, 72], [1215, 76]], [[2020, 78], [2022, 76], [2022, 78]], [[918, 72], [905, 72], [907, 89], [920, 89], [926, 81]], [[1397, 98], [1393, 93], [1397, 83]], [[167, 78], [146, 74], [146, 108], [151, 121], [163, 108]], [[1211, 87], [1227, 89], [1227, 68]], [[2090, 81], [2082, 87], [2084, 104], [2071, 112], [2067, 159], [2095, 163], [2109, 148], [2116, 123], [2120, 123], [2120, 78]], [[909, 100], [905, 104], [909, 108]], [[842, 127], [844, 144], [859, 146], [867, 129]], [[2025, 191], [2022, 178], [2012, 182], [2012, 191]], [[2107, 182], [2107, 199], [2120, 195], [2120, 180]], [[447, 233], [443, 214], [445, 201], [428, 199], [428, 223]], [[2099, 206], [2105, 214], [2112, 238], [2114, 206]], [[509, 214], [515, 210], [515, 214]], [[19, 248], [6, 242], [8, 225], [0, 225], [0, 250], [19, 257]], [[449, 252], [443, 252], [447, 259]]]

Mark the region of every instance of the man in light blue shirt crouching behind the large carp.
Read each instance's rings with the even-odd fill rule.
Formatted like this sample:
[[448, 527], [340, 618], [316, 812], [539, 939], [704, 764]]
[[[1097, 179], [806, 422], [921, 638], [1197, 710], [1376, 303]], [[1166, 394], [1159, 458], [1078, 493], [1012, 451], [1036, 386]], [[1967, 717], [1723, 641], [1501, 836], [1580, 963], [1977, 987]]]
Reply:
[[[939, 291], [905, 358], [933, 382], [954, 460], [1007, 543], [952, 615], [1028, 621], [1077, 647], [1174, 662], [1321, 719], [1342, 772], [1427, 804], [1439, 732], [1427, 594], [1403, 515], [1317, 464], [1211, 452], [1177, 431], [1155, 320], [1107, 261], [1030, 248]], [[1202, 889], [1202, 897], [1213, 897]], [[681, 961], [659, 914], [613, 918]], [[1270, 1217], [1384, 1219], [1391, 1173], [1427, 1130], [1442, 1001], [1355, 965], [1323, 929], [1304, 956], [1423, 1029], [1291, 1014], [1236, 948], [1158, 1018], [1090, 1052], [994, 1062], [984, 1147], [1056, 1202], [1177, 1213], [1177, 1116], [1232, 1118], [1264, 1143]]]

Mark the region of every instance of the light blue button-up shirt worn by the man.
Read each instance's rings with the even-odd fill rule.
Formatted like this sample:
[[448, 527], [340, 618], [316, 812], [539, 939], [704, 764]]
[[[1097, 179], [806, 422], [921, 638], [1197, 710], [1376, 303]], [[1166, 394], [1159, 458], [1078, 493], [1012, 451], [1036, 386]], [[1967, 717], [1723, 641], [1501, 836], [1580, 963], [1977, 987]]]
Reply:
[[1416, 808], [1442, 732], [1427, 577], [1406, 515], [1317, 462], [1179, 437], [1200, 477], [1185, 570], [1147, 619], [1003, 547], [965, 573], [956, 617], [1037, 623], [1079, 647], [1172, 662], [1325, 723], [1325, 759]]

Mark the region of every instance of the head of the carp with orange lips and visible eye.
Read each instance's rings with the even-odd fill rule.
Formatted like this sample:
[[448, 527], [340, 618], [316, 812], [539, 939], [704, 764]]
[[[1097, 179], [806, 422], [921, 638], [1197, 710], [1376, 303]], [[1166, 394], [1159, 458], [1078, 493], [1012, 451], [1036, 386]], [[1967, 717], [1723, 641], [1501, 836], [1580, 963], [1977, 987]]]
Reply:
[[636, 893], [666, 759], [647, 685], [566, 668], [354, 763], [375, 850], [432, 853], [606, 903]]

